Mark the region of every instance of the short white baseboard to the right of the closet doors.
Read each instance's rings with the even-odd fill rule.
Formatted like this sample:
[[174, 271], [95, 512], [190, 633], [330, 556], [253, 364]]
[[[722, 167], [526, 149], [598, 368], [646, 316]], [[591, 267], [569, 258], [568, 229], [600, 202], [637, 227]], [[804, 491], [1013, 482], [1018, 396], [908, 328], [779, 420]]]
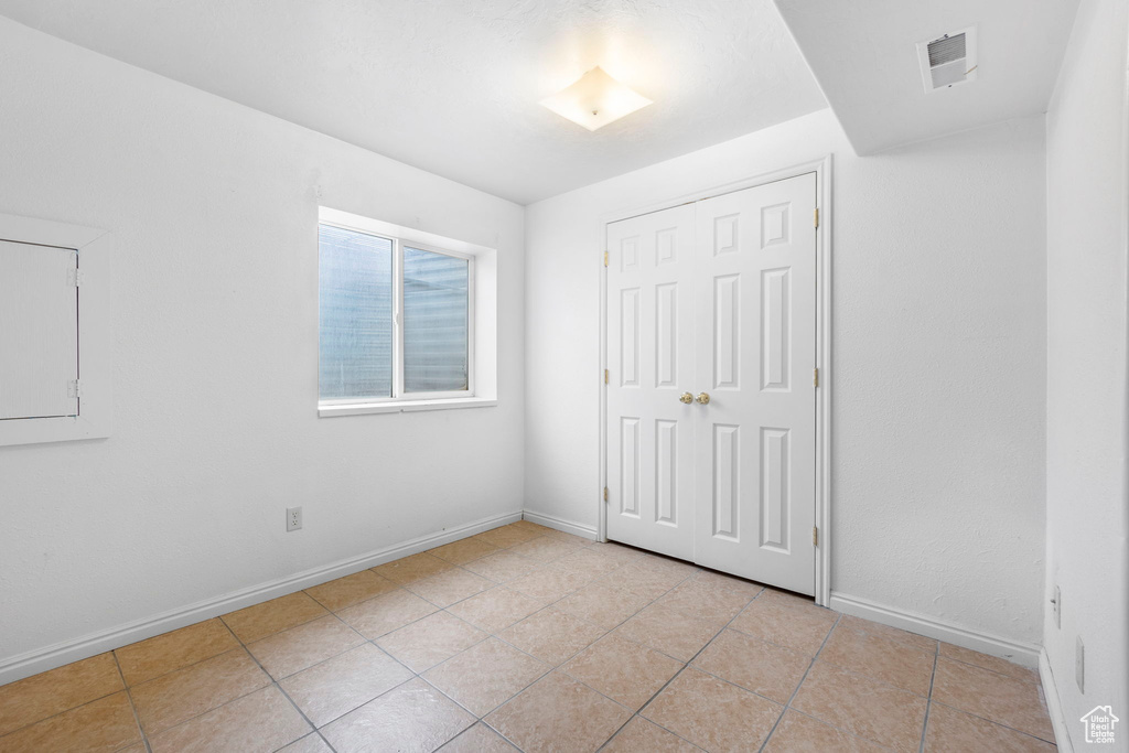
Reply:
[[1008, 662], [1022, 664], [1025, 667], [1039, 666], [1039, 647], [1034, 643], [1023, 643], [1019, 641], [1000, 638], [990, 633], [963, 628], [952, 622], [945, 622], [893, 606], [877, 604], [867, 598], [848, 596], [839, 592], [831, 592], [831, 603], [829, 606], [835, 612], [850, 614], [856, 618], [865, 618], [892, 628], [901, 628], [910, 632], [916, 632], [929, 638], [936, 638], [962, 648], [970, 648], [981, 654], [991, 654]]

